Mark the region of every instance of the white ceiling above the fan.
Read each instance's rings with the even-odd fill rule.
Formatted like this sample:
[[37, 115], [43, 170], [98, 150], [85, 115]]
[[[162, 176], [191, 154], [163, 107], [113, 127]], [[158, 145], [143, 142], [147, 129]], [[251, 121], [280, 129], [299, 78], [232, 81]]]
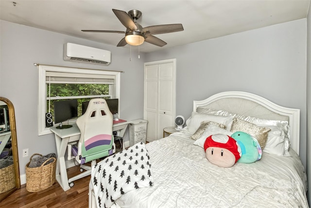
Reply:
[[142, 27], [183, 24], [184, 31], [155, 35], [167, 45], [158, 47], [145, 42], [140, 46], [141, 52], [152, 52], [306, 18], [309, 3], [310, 0], [0, 0], [0, 19], [114, 46], [123, 34], [81, 30], [125, 31], [112, 9], [141, 11], [137, 22]]

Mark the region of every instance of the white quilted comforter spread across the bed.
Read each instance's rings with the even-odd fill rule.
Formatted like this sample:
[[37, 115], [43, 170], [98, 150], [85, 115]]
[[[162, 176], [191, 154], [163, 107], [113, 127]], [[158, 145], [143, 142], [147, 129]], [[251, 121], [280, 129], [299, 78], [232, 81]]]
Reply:
[[308, 208], [306, 174], [298, 155], [263, 153], [252, 164], [220, 168], [183, 130], [148, 143], [154, 185], [116, 200], [121, 208]]

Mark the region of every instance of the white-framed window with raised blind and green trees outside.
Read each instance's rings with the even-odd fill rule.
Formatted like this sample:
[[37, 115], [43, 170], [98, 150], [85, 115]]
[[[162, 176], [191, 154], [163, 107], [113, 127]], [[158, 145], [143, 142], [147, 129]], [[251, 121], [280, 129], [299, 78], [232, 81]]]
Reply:
[[84, 101], [94, 97], [120, 98], [120, 74], [117, 71], [39, 65], [38, 134], [51, 133], [45, 126], [45, 114], [50, 111], [53, 115], [55, 100], [78, 99], [80, 116]]

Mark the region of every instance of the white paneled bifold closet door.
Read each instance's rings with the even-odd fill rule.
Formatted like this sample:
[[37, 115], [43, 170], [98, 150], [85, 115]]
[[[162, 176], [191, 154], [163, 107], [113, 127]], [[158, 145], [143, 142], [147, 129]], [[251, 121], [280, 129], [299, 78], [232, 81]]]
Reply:
[[147, 141], [163, 137], [165, 127], [174, 126], [176, 109], [176, 59], [145, 63], [144, 119]]

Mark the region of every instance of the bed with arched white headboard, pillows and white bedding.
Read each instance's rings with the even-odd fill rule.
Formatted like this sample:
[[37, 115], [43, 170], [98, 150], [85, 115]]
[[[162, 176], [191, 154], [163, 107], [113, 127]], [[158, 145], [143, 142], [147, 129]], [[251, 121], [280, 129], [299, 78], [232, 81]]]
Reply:
[[[213, 126], [214, 129], [207, 130], [210, 125], [202, 129], [201, 125], [202, 121], [212, 120], [215, 116], [224, 119], [217, 121], [226, 124], [226, 131], [229, 132], [236, 126], [236, 123], [230, 121], [234, 118], [251, 123], [244, 128], [256, 125], [256, 128], [271, 129], [265, 137], [261, 159], [249, 164], [237, 162], [229, 168], [210, 163], [202, 147], [202, 138], [220, 129]], [[193, 101], [193, 112], [186, 122], [187, 126], [181, 131], [146, 145], [136, 144], [127, 150], [126, 155], [133, 150], [144, 152], [146, 159], [141, 161], [145, 166], [139, 164], [139, 167], [145, 167], [144, 170], [150, 173], [143, 173], [146, 176], [143, 177], [144, 183], [139, 184], [141, 176], [132, 178], [136, 187], [127, 189], [118, 181], [119, 170], [107, 167], [112, 160], [117, 161], [124, 151], [93, 167], [89, 184], [89, 207], [308, 208], [307, 177], [298, 155], [299, 116], [298, 109], [281, 107], [263, 97], [245, 92], [224, 92], [202, 101]], [[231, 127], [228, 129], [228, 126]], [[138, 153], [136, 155], [141, 158]], [[110, 188], [107, 188], [110, 185], [106, 182], [100, 181], [105, 174], [117, 177], [110, 179]], [[126, 191], [117, 195], [107, 192], [112, 189], [118, 192], [120, 188]], [[104, 198], [110, 203], [104, 204]]]

